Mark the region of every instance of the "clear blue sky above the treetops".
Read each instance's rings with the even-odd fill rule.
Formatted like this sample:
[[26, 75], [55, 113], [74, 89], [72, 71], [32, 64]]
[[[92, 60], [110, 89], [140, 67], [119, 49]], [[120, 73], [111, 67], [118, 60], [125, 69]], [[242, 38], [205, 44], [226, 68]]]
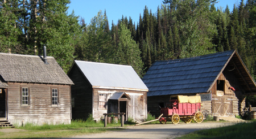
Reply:
[[[139, 21], [139, 14], [143, 15], [144, 7], [147, 6], [148, 10], [151, 9], [152, 13], [156, 13], [158, 6], [162, 5], [163, 0], [71, 0], [69, 4], [68, 14], [71, 14], [72, 10], [75, 11], [75, 15], [85, 19], [85, 23], [89, 24], [90, 19], [98, 14], [98, 11], [106, 10], [108, 16], [109, 25], [117, 24], [118, 19], [122, 18], [122, 15], [127, 17], [131, 16], [133, 22], [137, 25]], [[226, 8], [229, 6], [232, 11], [234, 4], [238, 5], [241, 0], [217, 0], [218, 3], [215, 7]]]

